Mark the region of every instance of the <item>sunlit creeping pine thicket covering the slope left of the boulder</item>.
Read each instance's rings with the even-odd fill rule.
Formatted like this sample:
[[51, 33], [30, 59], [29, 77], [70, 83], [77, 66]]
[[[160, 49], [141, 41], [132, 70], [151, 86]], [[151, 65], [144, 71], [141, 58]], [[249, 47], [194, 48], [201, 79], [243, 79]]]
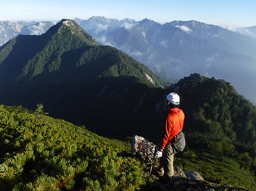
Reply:
[[38, 115], [0, 105], [2, 190], [130, 191], [154, 181], [136, 159], [117, 157], [130, 151], [128, 144]]

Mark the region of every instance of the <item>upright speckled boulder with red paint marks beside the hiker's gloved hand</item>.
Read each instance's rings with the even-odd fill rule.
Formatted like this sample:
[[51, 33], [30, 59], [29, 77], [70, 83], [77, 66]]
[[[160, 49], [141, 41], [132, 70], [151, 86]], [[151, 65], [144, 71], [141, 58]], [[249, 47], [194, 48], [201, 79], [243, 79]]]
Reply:
[[134, 135], [132, 138], [131, 155], [140, 158], [144, 163], [151, 163], [156, 152], [156, 145], [142, 136]]

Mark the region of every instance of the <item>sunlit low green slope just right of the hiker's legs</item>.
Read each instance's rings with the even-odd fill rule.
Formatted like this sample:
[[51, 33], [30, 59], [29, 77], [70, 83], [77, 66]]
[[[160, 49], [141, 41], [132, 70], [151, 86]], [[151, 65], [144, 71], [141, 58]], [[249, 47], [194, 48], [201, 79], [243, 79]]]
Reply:
[[198, 151], [194, 153], [191, 150], [184, 150], [184, 153], [174, 157], [174, 166], [184, 171], [197, 171], [206, 181], [256, 190], [255, 177], [250, 171], [241, 168], [241, 164], [243, 161], [235, 158]]

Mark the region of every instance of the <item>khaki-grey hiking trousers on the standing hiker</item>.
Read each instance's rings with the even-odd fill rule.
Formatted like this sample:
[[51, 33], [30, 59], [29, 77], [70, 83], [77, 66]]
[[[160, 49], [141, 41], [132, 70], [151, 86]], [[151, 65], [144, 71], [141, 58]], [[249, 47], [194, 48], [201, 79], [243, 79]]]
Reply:
[[158, 167], [159, 176], [173, 176], [173, 147], [170, 144], [166, 144], [165, 149], [163, 149], [163, 155], [160, 159], [160, 166]]

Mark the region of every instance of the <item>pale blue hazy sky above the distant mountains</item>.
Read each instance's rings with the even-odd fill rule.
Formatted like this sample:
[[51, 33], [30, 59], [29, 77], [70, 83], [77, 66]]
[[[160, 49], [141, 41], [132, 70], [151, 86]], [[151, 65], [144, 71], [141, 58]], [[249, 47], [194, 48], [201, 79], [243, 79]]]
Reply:
[[256, 25], [256, 0], [0, 0], [0, 21], [148, 18], [197, 20], [222, 27]]

